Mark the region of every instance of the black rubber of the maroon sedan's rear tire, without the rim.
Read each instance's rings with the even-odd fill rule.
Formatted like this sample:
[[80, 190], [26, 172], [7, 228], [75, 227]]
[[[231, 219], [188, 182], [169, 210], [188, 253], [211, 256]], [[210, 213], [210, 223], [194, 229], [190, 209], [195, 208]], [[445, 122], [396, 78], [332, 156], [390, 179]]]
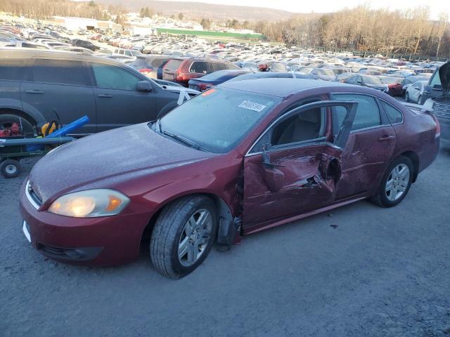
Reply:
[[[406, 189], [404, 190], [403, 194], [401, 194], [401, 196], [398, 199], [390, 200], [388, 199], [386, 192], [387, 180], [390, 178], [391, 172], [395, 168], [395, 166], [399, 166], [401, 164], [408, 166], [409, 169], [408, 185], [406, 186]], [[373, 201], [373, 203], [375, 204], [378, 204], [378, 206], [382, 207], [396, 206], [404, 199], [404, 197], [406, 197], [406, 194], [408, 194], [409, 189], [411, 188], [411, 184], [413, 183], [413, 176], [414, 176], [414, 166], [411, 159], [404, 156], [400, 156], [397, 159], [394, 159], [394, 161], [392, 161], [390, 166], [387, 167], [387, 170], [383, 178], [381, 179], [380, 186], [378, 187], [378, 190], [375, 193], [375, 195], [371, 198], [371, 201]]]

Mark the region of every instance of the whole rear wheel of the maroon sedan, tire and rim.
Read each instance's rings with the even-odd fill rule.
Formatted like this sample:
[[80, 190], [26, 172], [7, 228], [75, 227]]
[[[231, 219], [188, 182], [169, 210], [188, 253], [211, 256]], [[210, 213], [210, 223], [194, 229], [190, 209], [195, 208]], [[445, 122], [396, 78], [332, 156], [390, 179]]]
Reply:
[[371, 200], [382, 207], [396, 206], [408, 194], [413, 183], [413, 173], [414, 166], [411, 159], [403, 156], [394, 159]]

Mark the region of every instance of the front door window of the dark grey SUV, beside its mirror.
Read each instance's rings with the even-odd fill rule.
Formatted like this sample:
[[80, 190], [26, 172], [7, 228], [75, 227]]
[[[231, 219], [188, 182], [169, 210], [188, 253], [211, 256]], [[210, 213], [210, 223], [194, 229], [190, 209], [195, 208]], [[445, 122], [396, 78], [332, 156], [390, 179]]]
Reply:
[[127, 70], [113, 65], [94, 63], [92, 70], [99, 88], [135, 90], [138, 82], [141, 81], [139, 77], [130, 74]]

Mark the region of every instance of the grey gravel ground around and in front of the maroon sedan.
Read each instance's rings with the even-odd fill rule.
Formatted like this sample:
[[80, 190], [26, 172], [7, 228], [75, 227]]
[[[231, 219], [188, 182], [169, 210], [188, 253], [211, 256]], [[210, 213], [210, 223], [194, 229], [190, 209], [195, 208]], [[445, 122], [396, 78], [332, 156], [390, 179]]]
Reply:
[[[32, 161], [25, 161], [30, 171]], [[450, 151], [408, 197], [368, 201], [212, 251], [192, 275], [74, 267], [23, 236], [0, 178], [0, 336], [450, 336]]]

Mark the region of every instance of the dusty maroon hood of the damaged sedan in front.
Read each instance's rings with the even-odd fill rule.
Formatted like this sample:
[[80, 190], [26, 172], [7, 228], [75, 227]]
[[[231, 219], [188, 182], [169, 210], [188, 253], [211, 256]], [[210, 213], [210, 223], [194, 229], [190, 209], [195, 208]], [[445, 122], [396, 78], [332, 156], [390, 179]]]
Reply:
[[150, 130], [146, 123], [136, 124], [56, 148], [34, 165], [30, 183], [45, 202], [50, 197], [94, 188], [94, 185], [108, 188], [101, 186], [101, 180], [122, 183], [216, 155], [165, 138]]

